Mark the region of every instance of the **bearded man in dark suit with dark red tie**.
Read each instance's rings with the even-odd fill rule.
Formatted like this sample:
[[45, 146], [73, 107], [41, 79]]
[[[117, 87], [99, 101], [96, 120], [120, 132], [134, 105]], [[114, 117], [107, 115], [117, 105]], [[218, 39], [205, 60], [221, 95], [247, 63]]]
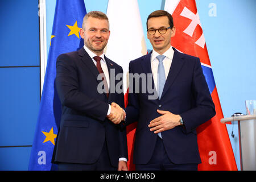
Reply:
[[[123, 70], [104, 55], [110, 35], [108, 17], [89, 12], [80, 35], [83, 48], [57, 57], [62, 115], [53, 162], [60, 170], [127, 170], [126, 130], [119, 126], [123, 110], [110, 105], [116, 102], [123, 107], [124, 98], [110, 86], [117, 84], [110, 72], [116, 76]], [[115, 116], [113, 122], [110, 114]]]

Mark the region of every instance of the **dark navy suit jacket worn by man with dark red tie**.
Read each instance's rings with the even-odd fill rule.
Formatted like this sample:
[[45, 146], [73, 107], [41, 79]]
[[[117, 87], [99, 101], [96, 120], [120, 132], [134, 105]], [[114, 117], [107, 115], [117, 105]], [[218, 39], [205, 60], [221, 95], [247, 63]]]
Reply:
[[[105, 57], [110, 69], [123, 73], [122, 67]], [[123, 93], [115, 93], [110, 86], [109, 98], [98, 93], [98, 70], [81, 48], [57, 57], [56, 89], [62, 104], [60, 129], [57, 135], [53, 162], [95, 163], [103, 144], [109, 151], [110, 162], [118, 167], [119, 158], [127, 158], [126, 130], [106, 118], [109, 105], [116, 102], [124, 107]], [[119, 80], [110, 78], [110, 85]]]

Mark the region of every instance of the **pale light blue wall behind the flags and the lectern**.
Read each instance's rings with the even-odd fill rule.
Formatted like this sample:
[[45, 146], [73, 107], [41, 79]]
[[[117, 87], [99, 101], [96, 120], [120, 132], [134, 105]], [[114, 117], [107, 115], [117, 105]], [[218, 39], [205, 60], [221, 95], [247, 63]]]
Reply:
[[[47, 11], [48, 44], [55, 2], [47, 0], [47, 10], [51, 10]], [[108, 0], [84, 2], [87, 12], [99, 10], [106, 13]], [[210, 3], [216, 5], [214, 16], [209, 15]], [[163, 9], [164, 0], [138, 0], [138, 4], [146, 38], [147, 16], [154, 10]], [[224, 117], [236, 112], [245, 114], [245, 100], [256, 100], [256, 1], [196, 0], [196, 5]], [[148, 39], [146, 45], [147, 49], [152, 49]], [[237, 122], [227, 125], [227, 129], [229, 136], [234, 131], [235, 136], [230, 137], [230, 142], [240, 169]]]

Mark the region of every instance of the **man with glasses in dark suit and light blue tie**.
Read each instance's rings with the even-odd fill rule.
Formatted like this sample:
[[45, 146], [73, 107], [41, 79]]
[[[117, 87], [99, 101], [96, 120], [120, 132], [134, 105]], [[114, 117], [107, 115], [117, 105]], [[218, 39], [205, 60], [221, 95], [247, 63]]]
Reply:
[[171, 47], [175, 31], [171, 14], [151, 13], [147, 38], [153, 50], [129, 64], [124, 123], [138, 121], [133, 161], [137, 170], [197, 170], [201, 159], [196, 128], [215, 115], [199, 58]]

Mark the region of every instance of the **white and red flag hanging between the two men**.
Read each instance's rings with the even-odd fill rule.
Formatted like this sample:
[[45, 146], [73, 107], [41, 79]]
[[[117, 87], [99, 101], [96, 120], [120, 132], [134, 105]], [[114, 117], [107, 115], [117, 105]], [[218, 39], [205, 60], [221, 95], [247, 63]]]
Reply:
[[[123, 68], [123, 90], [125, 106], [127, 106], [129, 63], [147, 53], [138, 2], [137, 0], [109, 0], [106, 15], [109, 18], [110, 38], [105, 48], [105, 55]], [[126, 128], [129, 170], [135, 169], [133, 143], [136, 126], [137, 122]]]

